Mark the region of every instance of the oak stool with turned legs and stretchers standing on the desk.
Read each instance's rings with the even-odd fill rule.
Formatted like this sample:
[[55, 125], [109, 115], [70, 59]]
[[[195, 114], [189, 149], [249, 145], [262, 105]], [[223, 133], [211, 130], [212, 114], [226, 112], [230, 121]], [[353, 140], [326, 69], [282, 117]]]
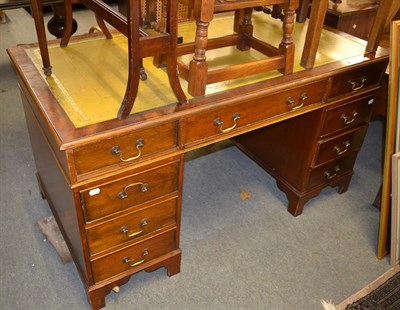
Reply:
[[[179, 0], [193, 9], [196, 21], [194, 42], [178, 46], [177, 55], [193, 54], [190, 64], [178, 61], [181, 77], [188, 81], [188, 92], [193, 96], [204, 95], [207, 84], [236, 79], [269, 70], [279, 70], [283, 74], [293, 72], [294, 13], [298, 0]], [[252, 10], [257, 6], [280, 5], [283, 8], [283, 36], [279, 47], [253, 37], [251, 23]], [[208, 38], [208, 26], [218, 12], [234, 11], [236, 34], [219, 38]], [[265, 31], [268, 31], [266, 29]], [[265, 54], [268, 58], [221, 69], [209, 69], [206, 50], [236, 45], [239, 50], [250, 48]]]

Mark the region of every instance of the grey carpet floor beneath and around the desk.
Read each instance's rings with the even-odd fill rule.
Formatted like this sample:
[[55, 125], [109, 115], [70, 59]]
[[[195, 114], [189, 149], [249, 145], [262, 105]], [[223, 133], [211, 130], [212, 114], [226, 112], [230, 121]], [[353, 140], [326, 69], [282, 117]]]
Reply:
[[[36, 41], [32, 18], [0, 24], [0, 309], [87, 309], [72, 263], [63, 265], [37, 221], [50, 215], [35, 167], [15, 73], [5, 49]], [[50, 16], [46, 16], [48, 20]], [[75, 14], [78, 33], [95, 23]], [[294, 218], [274, 180], [236, 148], [188, 154], [181, 272], [141, 272], [107, 296], [106, 309], [322, 309], [390, 268], [377, 260], [382, 124], [373, 122], [349, 191], [327, 188]], [[200, 156], [202, 155], [202, 156]], [[246, 190], [251, 197], [240, 198]]]

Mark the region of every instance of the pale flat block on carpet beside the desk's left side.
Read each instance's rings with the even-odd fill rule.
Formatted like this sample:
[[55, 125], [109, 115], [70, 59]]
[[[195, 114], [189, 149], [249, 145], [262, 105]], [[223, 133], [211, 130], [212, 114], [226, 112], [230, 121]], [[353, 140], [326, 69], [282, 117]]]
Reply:
[[50, 241], [52, 246], [56, 249], [63, 264], [72, 261], [71, 253], [68, 250], [67, 244], [58, 228], [57, 222], [53, 216], [48, 216], [38, 221], [41, 232], [45, 235], [47, 240]]

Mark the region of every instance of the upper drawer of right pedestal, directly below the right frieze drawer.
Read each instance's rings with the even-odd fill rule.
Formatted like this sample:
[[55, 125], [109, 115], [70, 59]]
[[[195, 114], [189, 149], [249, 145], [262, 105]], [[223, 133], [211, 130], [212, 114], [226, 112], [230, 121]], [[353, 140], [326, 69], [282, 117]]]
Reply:
[[374, 97], [369, 96], [325, 109], [321, 136], [369, 122], [373, 102]]

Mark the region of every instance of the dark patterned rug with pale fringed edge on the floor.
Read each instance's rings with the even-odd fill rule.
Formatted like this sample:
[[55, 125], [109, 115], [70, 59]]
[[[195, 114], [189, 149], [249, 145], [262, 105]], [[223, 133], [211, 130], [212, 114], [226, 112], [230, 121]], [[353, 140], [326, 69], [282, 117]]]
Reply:
[[321, 301], [325, 310], [400, 310], [400, 265], [396, 265], [339, 305]]

